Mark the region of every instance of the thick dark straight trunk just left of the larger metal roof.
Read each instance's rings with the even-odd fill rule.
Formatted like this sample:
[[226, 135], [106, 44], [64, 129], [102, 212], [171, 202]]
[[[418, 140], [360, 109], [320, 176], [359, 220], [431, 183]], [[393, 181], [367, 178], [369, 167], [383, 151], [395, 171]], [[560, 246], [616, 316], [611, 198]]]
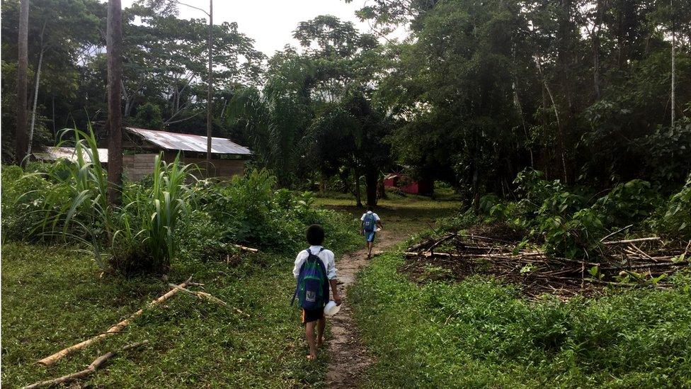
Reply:
[[108, 0], [108, 203], [122, 201], [122, 4]]

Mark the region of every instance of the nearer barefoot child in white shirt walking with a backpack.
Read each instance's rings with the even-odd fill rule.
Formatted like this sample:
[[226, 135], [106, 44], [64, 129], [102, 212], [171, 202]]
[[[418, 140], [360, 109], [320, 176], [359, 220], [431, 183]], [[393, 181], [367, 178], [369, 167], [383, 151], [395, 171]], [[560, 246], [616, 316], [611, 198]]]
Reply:
[[[304, 324], [309, 344], [307, 359], [316, 360], [316, 349], [324, 342], [324, 305], [329, 302], [329, 286], [333, 293], [333, 301], [341, 305], [341, 296], [336, 286], [336, 263], [333, 252], [322, 247], [324, 244], [324, 228], [313, 224], [307, 228], [307, 243], [309, 249], [297, 254], [292, 274], [297, 279], [297, 287], [293, 302], [297, 297], [302, 308], [302, 324]], [[292, 305], [292, 303], [291, 303]], [[317, 324], [319, 323], [319, 324]], [[314, 327], [317, 327], [317, 339], [314, 339]]]

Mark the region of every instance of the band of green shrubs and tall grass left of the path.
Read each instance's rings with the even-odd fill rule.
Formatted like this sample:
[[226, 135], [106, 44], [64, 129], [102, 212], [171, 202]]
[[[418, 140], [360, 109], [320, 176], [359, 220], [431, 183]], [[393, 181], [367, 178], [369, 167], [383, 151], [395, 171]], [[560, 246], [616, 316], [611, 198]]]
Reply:
[[43, 164], [35, 173], [3, 169], [4, 237], [76, 242], [98, 266], [125, 273], [164, 271], [178, 256], [217, 259], [234, 243], [295, 251], [314, 223], [324, 225], [327, 244], [357, 239], [353, 220], [314, 207], [311, 193], [275, 190], [269, 171], [186, 184], [191, 167], [178, 158], [168, 164], [156, 157], [150, 178], [125, 184], [124, 205], [109, 206], [93, 133], [74, 130], [74, 138], [75, 162]]

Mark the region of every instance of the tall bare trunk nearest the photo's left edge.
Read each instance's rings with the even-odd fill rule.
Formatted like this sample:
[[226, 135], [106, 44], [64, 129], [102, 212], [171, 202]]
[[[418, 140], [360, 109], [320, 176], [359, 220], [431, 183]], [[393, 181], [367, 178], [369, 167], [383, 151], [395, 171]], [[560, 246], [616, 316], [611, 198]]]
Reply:
[[28, 36], [29, 36], [29, 0], [21, 0], [19, 11], [19, 64], [17, 67], [17, 130], [16, 157], [18, 164], [23, 164], [28, 137], [26, 133], [26, 84], [28, 64]]

